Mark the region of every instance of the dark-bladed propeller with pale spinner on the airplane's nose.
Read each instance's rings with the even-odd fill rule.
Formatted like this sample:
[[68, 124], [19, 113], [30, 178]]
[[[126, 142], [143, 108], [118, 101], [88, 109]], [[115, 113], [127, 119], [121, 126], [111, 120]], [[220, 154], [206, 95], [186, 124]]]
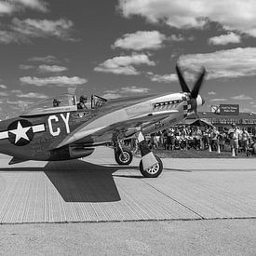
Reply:
[[176, 65], [176, 72], [179, 77], [182, 91], [190, 94], [191, 109], [195, 111], [195, 115], [198, 118], [198, 115], [197, 115], [198, 102], [201, 101], [200, 102], [201, 105], [203, 105], [205, 102], [202, 97], [199, 97], [199, 99], [198, 99], [198, 94], [199, 94], [200, 88], [202, 87], [202, 84], [203, 84], [204, 76], [206, 74], [206, 69], [202, 68], [201, 73], [198, 75], [198, 78], [195, 81], [195, 85], [194, 85], [194, 88], [192, 89], [192, 91], [190, 91], [190, 89], [188, 88], [188, 86], [183, 78], [180, 67], [178, 65]]

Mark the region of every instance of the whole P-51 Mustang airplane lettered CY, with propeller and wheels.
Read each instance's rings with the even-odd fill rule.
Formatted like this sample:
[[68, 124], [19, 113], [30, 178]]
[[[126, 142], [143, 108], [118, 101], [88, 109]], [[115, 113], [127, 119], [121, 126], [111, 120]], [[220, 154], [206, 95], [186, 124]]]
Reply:
[[[190, 91], [178, 66], [182, 92], [158, 97], [132, 97], [107, 101], [91, 96], [91, 105], [77, 109], [74, 94], [41, 101], [16, 118], [0, 122], [0, 153], [13, 156], [9, 164], [27, 160], [59, 161], [91, 155], [94, 147], [112, 142], [115, 161], [128, 165], [132, 153], [120, 140], [136, 136], [144, 177], [157, 177], [162, 161], [153, 155], [143, 134], [169, 128], [204, 104], [198, 94], [205, 69]], [[58, 104], [55, 104], [58, 102]], [[54, 103], [54, 106], [53, 106]]]

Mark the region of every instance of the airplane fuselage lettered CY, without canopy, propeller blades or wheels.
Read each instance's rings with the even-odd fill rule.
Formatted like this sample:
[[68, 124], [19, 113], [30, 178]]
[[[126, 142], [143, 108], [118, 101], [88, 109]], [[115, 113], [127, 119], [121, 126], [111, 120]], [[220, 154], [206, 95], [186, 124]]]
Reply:
[[0, 122], [0, 153], [32, 160], [87, 156], [90, 147], [111, 141], [114, 130], [152, 133], [181, 122], [193, 112], [189, 101], [187, 93], [173, 93], [118, 99], [88, 110], [20, 115]]

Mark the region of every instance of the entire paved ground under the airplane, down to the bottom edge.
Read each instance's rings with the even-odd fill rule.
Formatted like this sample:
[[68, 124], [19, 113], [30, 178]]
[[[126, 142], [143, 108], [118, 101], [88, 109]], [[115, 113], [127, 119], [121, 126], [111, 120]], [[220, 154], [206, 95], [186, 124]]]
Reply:
[[156, 179], [105, 147], [64, 162], [10, 158], [0, 155], [0, 254], [256, 254], [255, 158], [166, 158]]

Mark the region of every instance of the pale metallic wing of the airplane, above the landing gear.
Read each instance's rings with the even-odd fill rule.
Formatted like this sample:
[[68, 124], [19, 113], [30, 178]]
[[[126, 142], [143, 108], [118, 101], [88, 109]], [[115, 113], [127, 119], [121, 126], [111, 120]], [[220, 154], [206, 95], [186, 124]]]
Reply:
[[[167, 110], [167, 111], [159, 111], [159, 112], [152, 112], [147, 113], [143, 115], [136, 115], [132, 118], [128, 118], [126, 120], [113, 122], [112, 124], [109, 124], [107, 126], [98, 126], [97, 128], [90, 127], [82, 125], [80, 128], [76, 128], [74, 132], [70, 133], [61, 143], [56, 145], [57, 148], [60, 148], [64, 145], [70, 144], [70, 143], [86, 143], [86, 138], [98, 138], [99, 137], [110, 137], [110, 133], [112, 134], [114, 130], [127, 130], [131, 128], [138, 128], [141, 127], [144, 123], [155, 123], [158, 122], [169, 115], [173, 115], [179, 113], [178, 110]], [[108, 135], [108, 136], [107, 136]], [[103, 140], [102, 140], [103, 141]]]

